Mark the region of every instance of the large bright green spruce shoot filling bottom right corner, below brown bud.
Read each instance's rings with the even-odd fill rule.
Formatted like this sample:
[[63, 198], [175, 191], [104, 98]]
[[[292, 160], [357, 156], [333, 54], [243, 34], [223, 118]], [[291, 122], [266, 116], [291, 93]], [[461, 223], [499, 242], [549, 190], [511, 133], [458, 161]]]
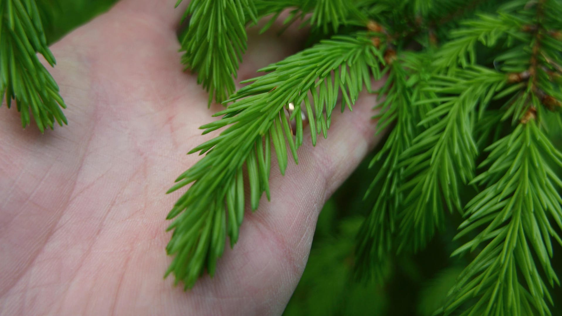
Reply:
[[562, 181], [551, 166], [562, 166], [562, 154], [535, 120], [520, 124], [487, 151], [481, 166], [488, 169], [473, 180], [487, 188], [466, 205], [468, 218], [455, 238], [482, 231], [453, 255], [485, 246], [461, 273], [443, 312], [450, 314], [474, 298], [463, 315], [550, 314], [547, 301], [553, 302], [545, 279], [550, 286], [560, 284], [550, 263], [551, 239], [562, 245], [549, 220], [562, 228]]

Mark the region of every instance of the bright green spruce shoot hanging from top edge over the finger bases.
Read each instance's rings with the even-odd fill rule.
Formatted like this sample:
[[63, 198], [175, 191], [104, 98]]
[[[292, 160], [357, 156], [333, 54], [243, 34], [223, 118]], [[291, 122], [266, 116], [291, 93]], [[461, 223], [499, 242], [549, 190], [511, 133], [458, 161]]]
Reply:
[[[178, 0], [176, 7], [181, 2]], [[209, 92], [209, 106], [234, 92], [234, 78], [247, 48], [246, 24], [257, 22], [256, 14], [253, 0], [189, 3], [184, 15], [184, 19], [189, 16], [189, 27], [180, 40], [182, 63], [197, 73], [197, 82]]]

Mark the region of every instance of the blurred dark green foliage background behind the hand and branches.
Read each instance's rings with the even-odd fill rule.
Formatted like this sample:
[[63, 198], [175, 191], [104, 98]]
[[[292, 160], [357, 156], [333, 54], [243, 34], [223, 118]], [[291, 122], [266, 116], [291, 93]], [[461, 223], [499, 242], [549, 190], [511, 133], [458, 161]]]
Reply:
[[[49, 42], [107, 11], [115, 2], [44, 0], [43, 18]], [[552, 134], [556, 145], [562, 146], [562, 131]], [[384, 279], [353, 279], [355, 236], [372, 205], [362, 200], [375, 175], [375, 170], [367, 168], [368, 161], [324, 206], [308, 264], [285, 315], [432, 315], [467, 264], [467, 259], [449, 256], [459, 246], [451, 242], [460, 223], [460, 218], [453, 216], [448, 230], [435, 237], [425, 251], [391, 258]], [[554, 253], [555, 269], [562, 272], [562, 249], [558, 247]], [[551, 294], [556, 305], [552, 313], [562, 315], [562, 290], [556, 287]]]

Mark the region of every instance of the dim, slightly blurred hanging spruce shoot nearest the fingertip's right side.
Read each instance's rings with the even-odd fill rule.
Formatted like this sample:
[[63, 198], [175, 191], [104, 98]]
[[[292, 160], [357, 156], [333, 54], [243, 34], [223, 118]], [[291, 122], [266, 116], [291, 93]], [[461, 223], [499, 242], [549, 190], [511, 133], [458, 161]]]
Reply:
[[[371, 213], [357, 233], [356, 269], [357, 277], [382, 279], [385, 263], [396, 244], [398, 209], [403, 192], [400, 191], [404, 166], [400, 166], [402, 153], [411, 146], [420, 127], [416, 126], [428, 111], [427, 105], [411, 108], [416, 98], [434, 97], [433, 93], [423, 91], [424, 65], [427, 56], [418, 53], [405, 53], [395, 62], [387, 65], [383, 73], [388, 73], [386, 83], [377, 91], [384, 100], [376, 107], [381, 114], [377, 116], [378, 130], [393, 125], [384, 146], [377, 152], [369, 168], [377, 167], [377, 176], [365, 193], [365, 199], [375, 196]], [[375, 190], [375, 188], [377, 188]]]

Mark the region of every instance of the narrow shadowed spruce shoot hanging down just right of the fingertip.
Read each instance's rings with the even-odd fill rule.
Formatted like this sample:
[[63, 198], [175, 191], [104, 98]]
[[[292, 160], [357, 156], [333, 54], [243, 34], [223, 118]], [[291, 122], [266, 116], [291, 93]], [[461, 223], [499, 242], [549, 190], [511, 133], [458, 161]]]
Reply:
[[[361, 277], [374, 276], [382, 278], [384, 262], [392, 251], [393, 235], [396, 225], [396, 210], [400, 203], [400, 192], [397, 186], [400, 184], [402, 169], [397, 168], [398, 157], [410, 146], [413, 136], [413, 121], [409, 112], [406, 110], [411, 104], [411, 95], [406, 87], [405, 69], [400, 62], [389, 65], [392, 70], [385, 86], [380, 90], [379, 96], [386, 95], [386, 100], [380, 103], [379, 107], [384, 109], [383, 116], [379, 121], [379, 126], [387, 125], [396, 121], [395, 127], [390, 132], [384, 147], [373, 157], [369, 168], [384, 158], [382, 165], [379, 165], [377, 176], [365, 193], [365, 197], [370, 194], [376, 195], [373, 210], [361, 225], [357, 234], [357, 262], [356, 273]], [[384, 94], [383, 94], [384, 93]], [[378, 192], [373, 192], [377, 184], [382, 183], [382, 188]]]

